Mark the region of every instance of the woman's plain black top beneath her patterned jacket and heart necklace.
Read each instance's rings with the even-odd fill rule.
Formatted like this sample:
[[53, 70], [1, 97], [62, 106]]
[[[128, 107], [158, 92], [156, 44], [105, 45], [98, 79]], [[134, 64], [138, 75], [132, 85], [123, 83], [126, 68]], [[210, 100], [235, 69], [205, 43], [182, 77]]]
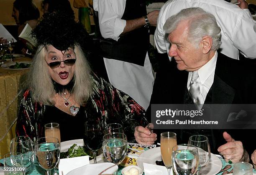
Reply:
[[[86, 114], [84, 107], [80, 107], [76, 116], [67, 114], [54, 106], [46, 106], [44, 124], [59, 123], [61, 142], [73, 139], [82, 139]], [[82, 122], [83, 121], [83, 122]]]

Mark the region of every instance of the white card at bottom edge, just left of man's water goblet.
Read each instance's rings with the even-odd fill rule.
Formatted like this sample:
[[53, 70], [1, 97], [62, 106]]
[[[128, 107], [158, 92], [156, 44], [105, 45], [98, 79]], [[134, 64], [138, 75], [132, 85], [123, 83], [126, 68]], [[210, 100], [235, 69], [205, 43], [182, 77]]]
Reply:
[[[168, 175], [168, 171], [164, 166], [143, 163], [143, 167], [145, 175]], [[172, 170], [170, 175], [172, 175]]]

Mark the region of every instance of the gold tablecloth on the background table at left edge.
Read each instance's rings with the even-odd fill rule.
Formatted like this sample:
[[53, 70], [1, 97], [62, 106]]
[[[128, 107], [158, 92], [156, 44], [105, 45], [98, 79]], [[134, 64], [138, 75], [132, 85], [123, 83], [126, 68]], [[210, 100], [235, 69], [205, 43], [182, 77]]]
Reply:
[[[31, 60], [31, 58], [16, 60], [28, 59]], [[28, 69], [7, 70], [0, 67], [0, 159], [10, 152], [10, 141], [15, 137], [15, 119], [23, 94], [21, 85], [24, 83], [27, 72]]]

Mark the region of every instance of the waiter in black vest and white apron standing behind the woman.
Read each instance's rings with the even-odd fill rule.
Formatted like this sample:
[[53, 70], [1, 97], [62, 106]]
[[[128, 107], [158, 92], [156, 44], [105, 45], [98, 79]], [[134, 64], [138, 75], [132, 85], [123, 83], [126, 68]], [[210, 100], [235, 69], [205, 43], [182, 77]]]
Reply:
[[148, 58], [149, 25], [156, 25], [158, 10], [146, 13], [145, 0], [93, 0], [98, 12], [100, 55], [110, 83], [148, 108], [154, 72]]

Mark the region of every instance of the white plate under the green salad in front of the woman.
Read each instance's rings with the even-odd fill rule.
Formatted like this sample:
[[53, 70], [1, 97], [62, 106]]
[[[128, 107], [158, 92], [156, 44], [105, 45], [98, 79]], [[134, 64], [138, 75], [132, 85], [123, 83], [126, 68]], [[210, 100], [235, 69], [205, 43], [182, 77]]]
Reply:
[[[84, 146], [84, 140], [83, 139], [76, 139], [76, 140], [68, 140], [66, 142], [61, 142], [60, 152], [66, 152], [74, 144], [77, 144], [78, 146], [83, 147]], [[103, 154], [98, 155], [96, 157], [97, 163], [104, 162], [103, 158], [104, 158]], [[93, 163], [93, 159], [90, 160], [90, 163]]]

